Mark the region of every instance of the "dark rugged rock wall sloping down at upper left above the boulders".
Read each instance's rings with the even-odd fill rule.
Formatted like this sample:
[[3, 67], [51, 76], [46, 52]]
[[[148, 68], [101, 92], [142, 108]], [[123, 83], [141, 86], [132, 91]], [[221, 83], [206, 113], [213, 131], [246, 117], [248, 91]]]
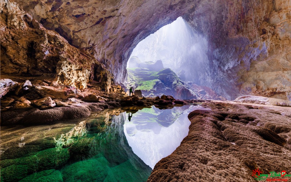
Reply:
[[1, 8], [1, 74], [54, 76], [59, 84], [82, 90], [94, 73], [100, 80], [108, 73], [104, 87], [110, 88], [109, 72], [94, 57], [45, 29], [17, 3], [2, 1]]

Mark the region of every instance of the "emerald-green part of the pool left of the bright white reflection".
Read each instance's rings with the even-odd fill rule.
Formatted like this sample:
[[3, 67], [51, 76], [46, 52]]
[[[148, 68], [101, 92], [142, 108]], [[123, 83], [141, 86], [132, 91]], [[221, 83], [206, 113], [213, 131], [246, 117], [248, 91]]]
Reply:
[[152, 169], [127, 143], [120, 113], [107, 109], [81, 122], [1, 127], [1, 182], [146, 181]]

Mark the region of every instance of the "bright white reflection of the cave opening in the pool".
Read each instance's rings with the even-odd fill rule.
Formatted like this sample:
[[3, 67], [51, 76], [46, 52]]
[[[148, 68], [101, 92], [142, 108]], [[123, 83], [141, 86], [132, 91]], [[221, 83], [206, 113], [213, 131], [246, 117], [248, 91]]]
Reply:
[[139, 110], [126, 120], [124, 133], [133, 152], [152, 169], [170, 155], [188, 135], [188, 114], [201, 106], [182, 106], [160, 110], [155, 106]]

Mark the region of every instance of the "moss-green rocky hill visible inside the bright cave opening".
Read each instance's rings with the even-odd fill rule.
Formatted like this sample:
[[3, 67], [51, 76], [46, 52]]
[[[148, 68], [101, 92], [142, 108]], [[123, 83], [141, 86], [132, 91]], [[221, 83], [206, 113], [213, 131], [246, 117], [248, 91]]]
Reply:
[[196, 94], [162, 61], [140, 62], [136, 56], [129, 60], [127, 69], [129, 87], [142, 90], [145, 96], [172, 95], [176, 99], [196, 99]]

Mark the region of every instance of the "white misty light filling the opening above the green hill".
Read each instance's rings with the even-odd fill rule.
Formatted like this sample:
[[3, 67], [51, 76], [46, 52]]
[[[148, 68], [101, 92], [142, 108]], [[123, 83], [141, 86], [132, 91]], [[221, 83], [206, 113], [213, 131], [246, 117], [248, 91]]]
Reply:
[[179, 17], [139, 42], [130, 58], [137, 56], [141, 62], [162, 60], [165, 68], [177, 74], [184, 70], [187, 81], [199, 83], [195, 72], [205, 69], [206, 51], [206, 39], [192, 32]]

